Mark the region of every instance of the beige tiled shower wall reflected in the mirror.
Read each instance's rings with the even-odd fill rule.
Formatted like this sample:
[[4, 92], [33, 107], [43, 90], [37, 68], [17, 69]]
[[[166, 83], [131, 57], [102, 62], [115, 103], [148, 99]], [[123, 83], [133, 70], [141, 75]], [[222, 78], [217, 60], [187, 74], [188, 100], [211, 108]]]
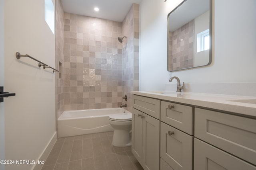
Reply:
[[173, 31], [173, 36], [169, 38], [169, 42], [172, 41], [172, 64], [168, 67], [171, 70], [192, 67], [194, 65], [194, 20]]

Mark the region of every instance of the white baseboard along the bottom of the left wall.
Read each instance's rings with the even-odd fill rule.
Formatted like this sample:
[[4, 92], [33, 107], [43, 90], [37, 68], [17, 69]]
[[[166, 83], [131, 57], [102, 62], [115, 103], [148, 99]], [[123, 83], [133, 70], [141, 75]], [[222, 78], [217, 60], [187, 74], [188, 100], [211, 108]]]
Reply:
[[42, 167], [44, 166], [44, 164], [38, 164], [38, 162], [42, 162], [42, 161], [46, 161], [48, 155], [50, 154], [52, 147], [54, 146], [54, 144], [57, 141], [57, 132], [54, 133], [54, 135], [52, 136], [51, 140], [49, 141], [49, 143], [46, 145], [46, 147], [44, 148], [42, 154], [39, 156], [38, 160], [36, 160], [36, 164], [34, 164], [34, 166], [32, 167], [31, 170], [41, 170]]

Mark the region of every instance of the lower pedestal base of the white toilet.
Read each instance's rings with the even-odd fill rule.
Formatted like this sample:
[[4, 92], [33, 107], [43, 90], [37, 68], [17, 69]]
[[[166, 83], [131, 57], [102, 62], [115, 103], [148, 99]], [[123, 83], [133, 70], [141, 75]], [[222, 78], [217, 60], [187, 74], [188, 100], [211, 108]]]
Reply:
[[128, 147], [132, 145], [129, 131], [114, 130], [112, 145], [115, 147]]

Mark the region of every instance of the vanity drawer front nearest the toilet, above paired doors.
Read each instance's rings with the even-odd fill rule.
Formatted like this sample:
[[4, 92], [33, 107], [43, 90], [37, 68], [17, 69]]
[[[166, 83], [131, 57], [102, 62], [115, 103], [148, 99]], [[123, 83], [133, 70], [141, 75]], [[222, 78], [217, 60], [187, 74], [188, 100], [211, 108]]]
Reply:
[[132, 95], [132, 107], [160, 119], [160, 100]]

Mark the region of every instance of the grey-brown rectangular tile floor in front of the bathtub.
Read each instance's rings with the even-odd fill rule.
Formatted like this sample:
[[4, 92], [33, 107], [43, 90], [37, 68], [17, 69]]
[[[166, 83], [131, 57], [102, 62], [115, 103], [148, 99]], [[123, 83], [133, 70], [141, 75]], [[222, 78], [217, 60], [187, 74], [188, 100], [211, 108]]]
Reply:
[[112, 132], [58, 138], [42, 170], [143, 170], [131, 147], [112, 146]]

